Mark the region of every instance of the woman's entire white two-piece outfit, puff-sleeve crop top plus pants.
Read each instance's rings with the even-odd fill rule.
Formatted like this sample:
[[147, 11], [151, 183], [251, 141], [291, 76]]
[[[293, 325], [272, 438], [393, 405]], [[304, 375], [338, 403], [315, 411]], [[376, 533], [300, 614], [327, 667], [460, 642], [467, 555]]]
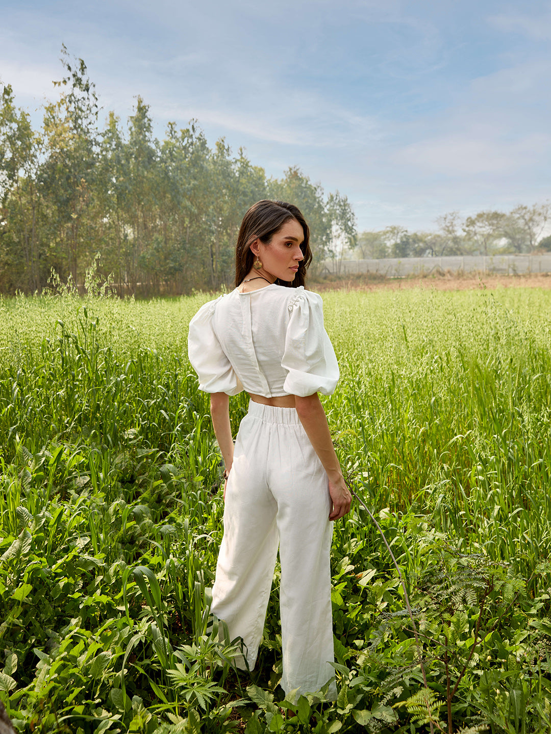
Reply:
[[[339, 379], [322, 300], [300, 288], [237, 289], [206, 303], [190, 323], [190, 362], [207, 393], [265, 397], [334, 391]], [[251, 401], [234, 448], [212, 611], [256, 662], [279, 545], [286, 694], [336, 697], [328, 477], [295, 408]], [[244, 661], [243, 661], [244, 662]]]

